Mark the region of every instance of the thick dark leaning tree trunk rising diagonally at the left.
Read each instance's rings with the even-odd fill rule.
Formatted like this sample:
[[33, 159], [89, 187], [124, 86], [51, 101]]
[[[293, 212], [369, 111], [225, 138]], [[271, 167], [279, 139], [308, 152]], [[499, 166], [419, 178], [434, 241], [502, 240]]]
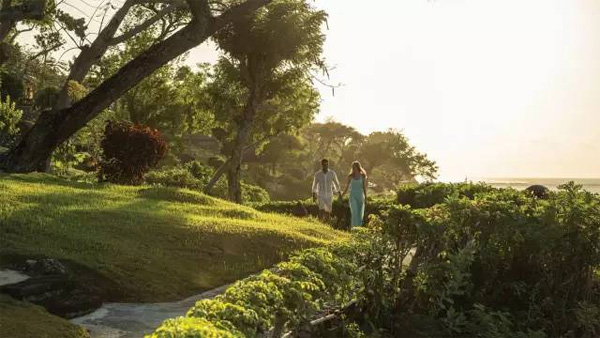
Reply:
[[[45, 171], [52, 152], [62, 142], [129, 89], [217, 31], [246, 18], [269, 2], [246, 0], [215, 15], [208, 1], [186, 0], [192, 16], [188, 24], [141, 52], [81, 100], [68, 107], [41, 114], [20, 142], [2, 154], [0, 167], [11, 172]], [[70, 76], [70, 79], [74, 77]]]

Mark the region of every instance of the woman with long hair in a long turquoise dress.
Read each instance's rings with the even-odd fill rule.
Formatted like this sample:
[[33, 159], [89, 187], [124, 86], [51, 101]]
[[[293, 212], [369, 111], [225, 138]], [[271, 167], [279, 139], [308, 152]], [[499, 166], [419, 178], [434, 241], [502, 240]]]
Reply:
[[352, 214], [350, 226], [362, 226], [365, 217], [365, 201], [367, 200], [367, 172], [358, 161], [352, 163], [352, 171], [348, 174], [343, 195], [348, 189], [350, 190], [349, 201]]

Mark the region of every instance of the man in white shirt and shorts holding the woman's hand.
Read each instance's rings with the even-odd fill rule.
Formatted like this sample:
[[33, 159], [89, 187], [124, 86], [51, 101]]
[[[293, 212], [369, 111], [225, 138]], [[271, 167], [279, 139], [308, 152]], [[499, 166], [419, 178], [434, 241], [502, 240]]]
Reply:
[[322, 221], [329, 221], [331, 209], [333, 206], [333, 194], [338, 193], [342, 198], [340, 182], [333, 170], [329, 169], [329, 161], [321, 161], [321, 170], [317, 171], [313, 180], [313, 201], [319, 204], [319, 218]]

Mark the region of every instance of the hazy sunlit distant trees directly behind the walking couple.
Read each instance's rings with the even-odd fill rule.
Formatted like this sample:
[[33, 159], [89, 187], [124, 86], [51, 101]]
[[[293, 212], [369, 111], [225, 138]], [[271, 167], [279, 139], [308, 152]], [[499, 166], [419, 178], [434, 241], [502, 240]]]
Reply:
[[415, 178], [435, 177], [437, 167], [408, 143], [399, 131], [363, 135], [344, 124], [328, 121], [313, 123], [298, 135], [274, 137], [248, 162], [246, 177], [265, 187], [278, 200], [297, 200], [310, 196], [310, 184], [322, 158], [343, 177], [357, 159], [369, 173], [371, 193], [387, 193]]

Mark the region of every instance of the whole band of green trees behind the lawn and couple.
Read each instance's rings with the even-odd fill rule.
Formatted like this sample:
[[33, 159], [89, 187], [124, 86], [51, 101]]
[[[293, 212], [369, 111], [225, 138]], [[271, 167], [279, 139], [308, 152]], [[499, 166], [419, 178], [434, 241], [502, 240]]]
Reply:
[[[213, 11], [218, 14], [233, 4], [223, 3], [224, 8]], [[0, 167], [4, 170], [41, 167], [88, 180], [100, 171], [101, 179], [139, 184], [153, 167], [145, 175], [148, 183], [201, 189], [236, 202], [265, 201], [269, 195], [278, 200], [306, 198], [321, 158], [331, 160], [342, 182], [350, 163], [360, 160], [370, 173], [374, 192], [436, 175], [435, 163], [398, 130], [364, 135], [334, 121], [314, 123], [320, 109], [315, 83], [323, 82], [327, 74], [322, 56], [327, 15], [311, 2], [273, 1], [224, 26], [212, 36], [219, 47], [215, 64], [189, 67], [183, 54], [81, 126], [67, 126], [78, 118], [53, 121], [59, 110], [93, 96], [132, 60], [178, 34], [193, 13], [183, 3], [174, 8], [167, 2], [128, 0], [114, 9], [111, 20], [119, 24], [118, 29], [107, 24], [99, 33], [107, 40], [94, 40], [97, 34], [84, 18], [69, 14], [60, 4], [47, 5], [43, 20], [9, 27], [3, 41], [8, 51], [0, 68], [0, 147], [5, 151]], [[112, 13], [103, 7], [99, 10], [106, 19]], [[33, 46], [22, 45], [25, 32], [34, 36]], [[104, 36], [108, 34], [112, 39]], [[72, 62], [56, 59], [69, 40], [80, 54]], [[109, 153], [118, 153], [115, 147], [131, 144], [137, 149], [123, 149], [123, 154], [163, 151], [137, 141], [123, 142], [126, 135], [118, 144], [103, 143], [108, 120], [147, 126], [148, 133], [154, 133], [147, 139], [162, 136], [168, 150], [158, 166], [133, 168], [132, 163], [122, 163], [129, 156], [109, 158]], [[48, 130], [51, 125], [60, 128]], [[76, 132], [53, 145], [63, 138], [62, 128]], [[44, 137], [48, 141], [41, 141]], [[156, 141], [162, 149], [161, 141]], [[51, 148], [49, 158], [43, 155], [46, 147]], [[30, 151], [34, 154], [22, 154]], [[102, 169], [103, 165], [110, 168]], [[122, 175], [127, 171], [139, 177], [128, 181]], [[121, 174], [117, 178], [102, 174], [107, 172]]]

